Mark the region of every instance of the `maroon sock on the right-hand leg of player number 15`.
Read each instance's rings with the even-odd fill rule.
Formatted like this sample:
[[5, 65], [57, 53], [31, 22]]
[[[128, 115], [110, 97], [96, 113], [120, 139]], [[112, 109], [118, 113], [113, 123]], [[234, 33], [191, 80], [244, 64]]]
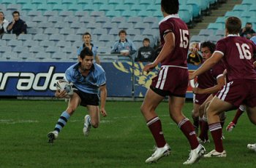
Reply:
[[195, 135], [195, 129], [192, 125], [192, 123], [189, 121], [189, 119], [185, 118], [181, 120], [178, 123], [178, 127], [181, 129], [183, 134], [187, 137], [187, 140], [189, 140], [189, 144], [191, 146], [191, 149], [197, 148], [199, 145], [197, 136]]

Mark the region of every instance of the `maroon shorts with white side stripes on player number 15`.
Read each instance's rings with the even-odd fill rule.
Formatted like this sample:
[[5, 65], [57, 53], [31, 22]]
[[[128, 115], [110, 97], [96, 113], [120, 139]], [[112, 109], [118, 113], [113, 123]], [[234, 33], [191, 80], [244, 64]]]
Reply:
[[186, 97], [188, 84], [187, 68], [163, 65], [158, 75], [152, 79], [151, 89], [161, 96]]

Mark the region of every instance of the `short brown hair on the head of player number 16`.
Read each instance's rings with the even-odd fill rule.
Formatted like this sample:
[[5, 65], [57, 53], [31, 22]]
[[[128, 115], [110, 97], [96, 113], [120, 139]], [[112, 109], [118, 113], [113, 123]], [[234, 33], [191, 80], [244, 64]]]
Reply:
[[228, 33], [238, 34], [241, 30], [241, 20], [238, 17], [228, 17], [225, 23]]

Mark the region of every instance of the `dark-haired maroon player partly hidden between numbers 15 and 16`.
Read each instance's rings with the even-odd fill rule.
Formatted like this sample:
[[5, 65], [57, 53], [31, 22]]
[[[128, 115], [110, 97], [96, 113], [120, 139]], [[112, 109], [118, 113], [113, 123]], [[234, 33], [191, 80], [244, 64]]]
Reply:
[[[194, 46], [195, 47], [192, 47], [190, 50], [197, 51], [200, 49], [203, 55], [203, 61], [208, 60], [208, 58], [211, 57], [215, 50], [215, 44], [211, 41], [206, 41], [200, 45], [197, 44]], [[212, 100], [214, 95], [216, 95], [219, 89], [221, 89], [225, 84], [225, 76], [223, 75], [223, 71], [225, 71], [225, 66], [222, 64], [222, 62], [217, 63], [214, 65], [214, 67], [205, 73], [197, 76], [198, 86], [192, 88], [193, 93], [195, 93], [195, 103], [192, 117], [195, 119], [197, 116], [199, 116], [200, 135], [197, 139], [200, 143], [209, 142], [208, 123], [207, 116], [205, 114], [205, 108]], [[225, 122], [225, 113], [221, 113], [219, 117], [223, 126]]]

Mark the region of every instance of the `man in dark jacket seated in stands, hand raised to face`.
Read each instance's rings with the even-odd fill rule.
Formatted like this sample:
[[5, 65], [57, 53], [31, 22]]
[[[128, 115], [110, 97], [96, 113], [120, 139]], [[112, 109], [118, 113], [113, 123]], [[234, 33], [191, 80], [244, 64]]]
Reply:
[[8, 33], [16, 34], [16, 36], [19, 36], [20, 34], [26, 34], [27, 25], [25, 21], [20, 19], [20, 12], [12, 12], [12, 17], [13, 20], [7, 27]]

